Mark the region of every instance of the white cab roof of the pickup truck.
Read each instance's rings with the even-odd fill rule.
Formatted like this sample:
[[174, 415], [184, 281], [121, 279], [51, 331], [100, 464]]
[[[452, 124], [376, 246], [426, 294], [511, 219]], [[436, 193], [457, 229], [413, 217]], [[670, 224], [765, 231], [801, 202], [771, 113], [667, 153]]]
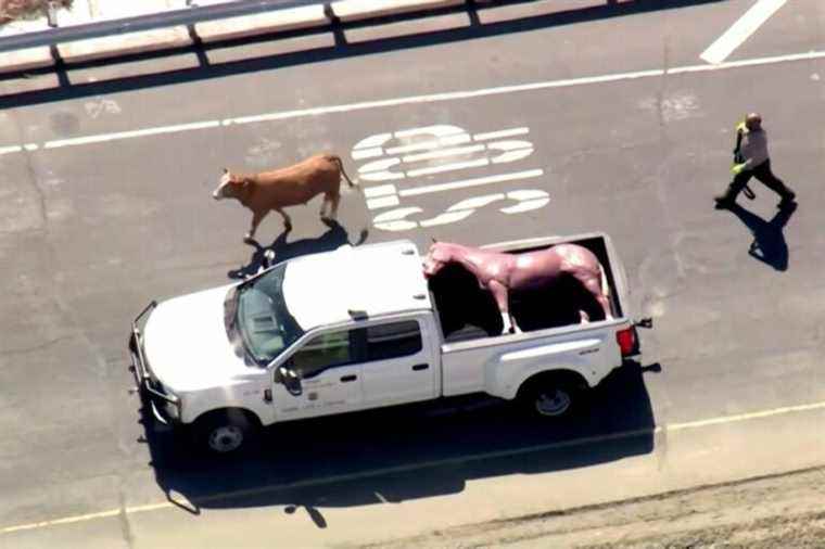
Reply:
[[291, 259], [283, 280], [287, 308], [305, 331], [364, 316], [432, 309], [421, 265], [408, 240]]

